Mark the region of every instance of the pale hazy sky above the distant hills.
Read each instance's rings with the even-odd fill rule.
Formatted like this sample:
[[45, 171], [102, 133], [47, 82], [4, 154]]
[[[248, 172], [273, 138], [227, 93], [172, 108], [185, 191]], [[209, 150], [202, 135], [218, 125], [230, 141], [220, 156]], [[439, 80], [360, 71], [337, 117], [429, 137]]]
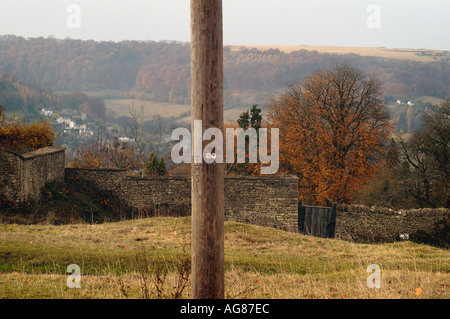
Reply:
[[[450, 0], [223, 0], [223, 15], [225, 44], [450, 50]], [[0, 34], [189, 42], [189, 0], [1, 0]]]

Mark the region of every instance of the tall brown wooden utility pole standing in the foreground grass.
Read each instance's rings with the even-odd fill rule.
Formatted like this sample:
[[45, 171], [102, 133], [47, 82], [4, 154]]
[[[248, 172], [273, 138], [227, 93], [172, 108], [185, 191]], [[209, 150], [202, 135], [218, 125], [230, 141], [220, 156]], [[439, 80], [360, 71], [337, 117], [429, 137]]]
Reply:
[[211, 142], [199, 136], [206, 129], [223, 132], [222, 0], [191, 0], [191, 77], [192, 298], [223, 299], [224, 167], [195, 151]]

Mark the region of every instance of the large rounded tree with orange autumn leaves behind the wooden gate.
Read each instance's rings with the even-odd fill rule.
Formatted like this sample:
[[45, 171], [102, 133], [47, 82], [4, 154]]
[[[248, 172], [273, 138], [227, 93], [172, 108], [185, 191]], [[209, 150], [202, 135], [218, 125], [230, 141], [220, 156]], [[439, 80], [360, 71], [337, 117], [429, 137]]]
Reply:
[[389, 113], [375, 76], [347, 63], [316, 71], [269, 104], [280, 129], [280, 169], [299, 177], [299, 196], [350, 202], [380, 167]]

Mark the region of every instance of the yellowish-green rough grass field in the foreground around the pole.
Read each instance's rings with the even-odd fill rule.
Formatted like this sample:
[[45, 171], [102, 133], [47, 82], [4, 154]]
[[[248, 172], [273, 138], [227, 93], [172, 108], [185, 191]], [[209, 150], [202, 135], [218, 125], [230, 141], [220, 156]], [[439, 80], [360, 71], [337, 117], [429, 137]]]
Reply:
[[[2, 224], [0, 298], [172, 298], [183, 273], [180, 265], [190, 258], [189, 246], [189, 217], [99, 225]], [[449, 298], [449, 257], [446, 250], [411, 242], [356, 244], [227, 222], [225, 294]], [[80, 289], [66, 285], [70, 264], [81, 267]], [[379, 289], [367, 287], [370, 264], [381, 268]], [[155, 280], [158, 274], [164, 284]], [[185, 283], [181, 298], [190, 297], [190, 281]]]

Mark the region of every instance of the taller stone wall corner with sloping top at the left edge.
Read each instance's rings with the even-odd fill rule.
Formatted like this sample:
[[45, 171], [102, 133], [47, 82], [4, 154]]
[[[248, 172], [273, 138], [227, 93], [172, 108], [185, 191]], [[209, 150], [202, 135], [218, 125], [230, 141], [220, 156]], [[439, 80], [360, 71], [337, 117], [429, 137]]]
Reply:
[[65, 153], [44, 147], [24, 154], [0, 149], [0, 196], [16, 202], [37, 200], [48, 181], [64, 179]]

